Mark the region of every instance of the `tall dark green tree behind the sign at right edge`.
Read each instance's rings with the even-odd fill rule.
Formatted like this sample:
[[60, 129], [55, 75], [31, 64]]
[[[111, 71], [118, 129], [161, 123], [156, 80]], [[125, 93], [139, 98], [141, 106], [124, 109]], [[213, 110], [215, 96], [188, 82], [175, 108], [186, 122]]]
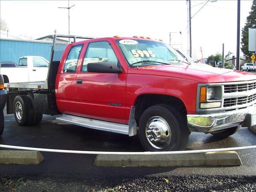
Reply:
[[256, 28], [256, 0], [253, 0], [251, 12], [249, 13], [249, 16], [246, 18], [246, 24], [244, 28], [242, 28], [242, 52], [244, 53], [245, 58], [249, 61], [250, 56], [252, 54], [256, 54], [256, 51], [248, 51], [248, 29], [249, 28]]

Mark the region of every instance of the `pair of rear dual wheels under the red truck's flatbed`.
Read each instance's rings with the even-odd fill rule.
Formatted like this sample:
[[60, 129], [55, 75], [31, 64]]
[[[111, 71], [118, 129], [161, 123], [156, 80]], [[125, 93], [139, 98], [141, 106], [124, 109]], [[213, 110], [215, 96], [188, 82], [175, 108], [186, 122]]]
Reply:
[[38, 124], [42, 120], [42, 113], [34, 107], [32, 96], [18, 95], [14, 98], [14, 117], [19, 125]]

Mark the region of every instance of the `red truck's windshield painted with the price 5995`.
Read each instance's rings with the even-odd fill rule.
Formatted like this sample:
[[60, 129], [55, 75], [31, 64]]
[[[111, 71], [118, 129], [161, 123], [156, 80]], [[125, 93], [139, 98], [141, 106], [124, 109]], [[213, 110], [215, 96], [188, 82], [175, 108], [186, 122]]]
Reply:
[[182, 56], [176, 54], [176, 51], [164, 42], [142, 39], [118, 39], [116, 43], [130, 67], [187, 64], [187, 61]]

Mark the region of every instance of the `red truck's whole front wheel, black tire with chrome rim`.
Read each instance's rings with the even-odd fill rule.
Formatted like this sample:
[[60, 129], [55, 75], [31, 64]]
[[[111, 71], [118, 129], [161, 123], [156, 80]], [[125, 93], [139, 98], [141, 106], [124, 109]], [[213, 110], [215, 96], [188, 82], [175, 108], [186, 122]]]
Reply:
[[190, 134], [186, 122], [172, 106], [151, 106], [140, 117], [140, 142], [146, 151], [184, 150]]

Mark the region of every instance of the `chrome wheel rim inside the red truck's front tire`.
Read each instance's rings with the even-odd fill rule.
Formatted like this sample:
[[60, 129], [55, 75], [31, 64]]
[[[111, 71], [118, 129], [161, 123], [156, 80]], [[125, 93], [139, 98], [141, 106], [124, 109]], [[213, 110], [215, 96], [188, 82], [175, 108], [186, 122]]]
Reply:
[[148, 120], [145, 134], [149, 144], [158, 150], [166, 148], [170, 144], [172, 136], [170, 126], [159, 116]]

